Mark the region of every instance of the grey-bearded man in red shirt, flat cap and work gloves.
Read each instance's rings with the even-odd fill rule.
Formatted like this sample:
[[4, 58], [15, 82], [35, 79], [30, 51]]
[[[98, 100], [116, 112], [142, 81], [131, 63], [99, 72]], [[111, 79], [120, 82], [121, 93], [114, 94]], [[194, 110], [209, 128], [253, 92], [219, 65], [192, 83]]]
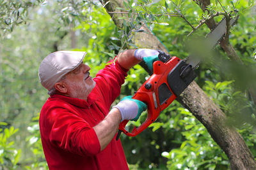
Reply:
[[141, 60], [152, 69], [158, 53], [126, 50], [95, 78], [83, 64], [86, 52], [54, 52], [42, 60], [38, 74], [50, 97], [39, 124], [49, 169], [129, 169], [120, 139], [114, 137], [122, 120], [138, 120], [147, 105], [131, 96], [113, 108], [111, 104], [120, 95], [127, 71]]

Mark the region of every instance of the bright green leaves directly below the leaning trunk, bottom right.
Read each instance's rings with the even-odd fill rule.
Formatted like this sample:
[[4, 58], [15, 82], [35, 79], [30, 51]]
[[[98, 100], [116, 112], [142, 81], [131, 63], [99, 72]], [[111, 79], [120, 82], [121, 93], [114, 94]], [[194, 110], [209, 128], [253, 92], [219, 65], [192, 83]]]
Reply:
[[[179, 148], [162, 156], [168, 158], [168, 169], [228, 169], [228, 159], [220, 147], [213, 141], [205, 127], [188, 110], [178, 108], [179, 125], [184, 141]], [[176, 127], [173, 127], [176, 128]]]

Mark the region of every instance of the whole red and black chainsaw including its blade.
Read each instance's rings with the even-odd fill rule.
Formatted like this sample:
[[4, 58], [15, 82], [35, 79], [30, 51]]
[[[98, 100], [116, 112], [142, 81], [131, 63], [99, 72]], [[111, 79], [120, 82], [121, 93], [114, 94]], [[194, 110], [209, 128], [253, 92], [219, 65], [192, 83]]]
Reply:
[[[238, 15], [229, 22], [230, 26], [234, 25]], [[218, 25], [205, 38], [208, 48], [214, 48], [225, 36], [226, 19], [223, 18]], [[195, 80], [195, 69], [200, 64], [200, 59], [189, 55], [187, 59], [171, 57], [167, 53], [159, 51], [159, 60], [153, 63], [154, 73], [132, 96], [132, 99], [143, 101], [147, 104], [147, 119], [139, 127], [134, 127], [132, 132], [125, 130], [125, 125], [129, 120], [124, 120], [119, 125], [119, 131], [116, 140], [121, 132], [127, 136], [136, 136], [152, 124], [159, 113], [167, 108], [179, 96], [188, 85]]]

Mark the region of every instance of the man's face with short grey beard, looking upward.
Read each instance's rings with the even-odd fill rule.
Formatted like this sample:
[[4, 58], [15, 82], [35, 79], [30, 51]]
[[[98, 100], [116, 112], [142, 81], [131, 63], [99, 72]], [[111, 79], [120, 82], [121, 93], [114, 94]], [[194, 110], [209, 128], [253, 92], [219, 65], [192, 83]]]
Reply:
[[88, 95], [95, 87], [95, 81], [92, 80], [89, 71], [90, 67], [82, 63], [66, 74], [63, 81], [67, 85], [68, 96], [87, 100]]

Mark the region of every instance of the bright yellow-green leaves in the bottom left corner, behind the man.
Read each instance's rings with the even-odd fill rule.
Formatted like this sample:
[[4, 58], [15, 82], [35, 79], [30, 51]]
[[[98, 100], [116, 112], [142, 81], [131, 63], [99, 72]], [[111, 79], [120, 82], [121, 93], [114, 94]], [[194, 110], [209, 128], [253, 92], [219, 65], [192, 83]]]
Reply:
[[[0, 125], [6, 126], [5, 122], [0, 122]], [[15, 148], [15, 141], [13, 135], [17, 133], [19, 129], [15, 129], [13, 126], [10, 128], [0, 128], [0, 165], [1, 169], [16, 169], [20, 159], [21, 150]]]

